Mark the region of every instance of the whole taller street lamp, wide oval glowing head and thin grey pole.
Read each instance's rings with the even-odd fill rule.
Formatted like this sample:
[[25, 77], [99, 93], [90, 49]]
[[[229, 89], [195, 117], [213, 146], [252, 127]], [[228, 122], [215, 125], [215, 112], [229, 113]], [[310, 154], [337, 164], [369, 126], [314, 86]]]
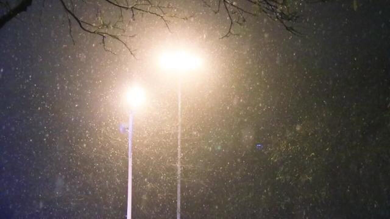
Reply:
[[176, 217], [180, 219], [180, 201], [181, 201], [181, 72], [197, 69], [202, 64], [202, 60], [190, 53], [184, 51], [167, 52], [161, 55], [160, 65], [165, 70], [171, 70], [177, 72], [177, 117], [178, 117], [178, 129], [177, 129], [177, 210]]

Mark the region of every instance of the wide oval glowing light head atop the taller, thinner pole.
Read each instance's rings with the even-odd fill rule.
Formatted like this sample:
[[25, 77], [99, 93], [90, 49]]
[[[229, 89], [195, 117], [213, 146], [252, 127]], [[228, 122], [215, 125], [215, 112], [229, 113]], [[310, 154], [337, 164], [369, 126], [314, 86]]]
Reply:
[[161, 55], [160, 65], [164, 69], [185, 71], [199, 68], [202, 60], [184, 51], [176, 51]]

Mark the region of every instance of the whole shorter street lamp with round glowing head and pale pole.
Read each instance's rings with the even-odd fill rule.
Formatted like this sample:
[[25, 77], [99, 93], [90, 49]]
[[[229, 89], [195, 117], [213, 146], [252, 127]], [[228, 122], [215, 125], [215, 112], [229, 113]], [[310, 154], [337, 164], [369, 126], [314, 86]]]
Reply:
[[128, 187], [127, 187], [127, 218], [131, 219], [131, 185], [132, 185], [132, 175], [133, 175], [133, 148], [132, 148], [132, 138], [133, 138], [133, 117], [135, 109], [139, 107], [145, 101], [144, 90], [140, 87], [133, 87], [129, 89], [126, 93], [126, 102], [129, 106], [129, 175], [128, 175]]

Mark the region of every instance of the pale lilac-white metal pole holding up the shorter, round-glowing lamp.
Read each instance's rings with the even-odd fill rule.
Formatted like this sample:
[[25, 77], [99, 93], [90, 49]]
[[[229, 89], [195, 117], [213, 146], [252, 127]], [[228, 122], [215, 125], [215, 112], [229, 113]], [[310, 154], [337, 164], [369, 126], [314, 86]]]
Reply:
[[131, 219], [131, 185], [133, 175], [133, 146], [131, 141], [133, 139], [133, 113], [129, 113], [129, 175], [128, 175], [128, 186], [127, 186], [127, 218]]

